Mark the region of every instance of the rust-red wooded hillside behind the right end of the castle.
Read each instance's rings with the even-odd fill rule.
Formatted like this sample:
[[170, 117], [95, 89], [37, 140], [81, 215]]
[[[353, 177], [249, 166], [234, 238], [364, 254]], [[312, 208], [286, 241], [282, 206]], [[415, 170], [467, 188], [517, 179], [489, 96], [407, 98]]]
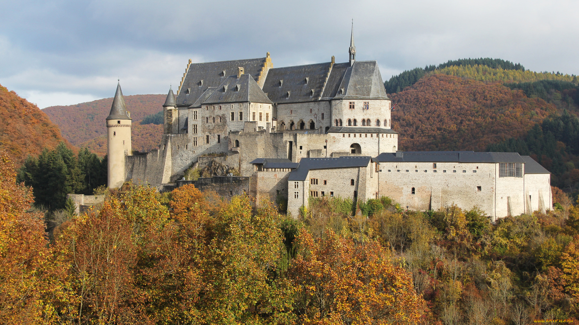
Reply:
[[391, 94], [394, 130], [402, 150], [483, 151], [526, 134], [555, 106], [501, 84], [450, 75], [423, 77]]

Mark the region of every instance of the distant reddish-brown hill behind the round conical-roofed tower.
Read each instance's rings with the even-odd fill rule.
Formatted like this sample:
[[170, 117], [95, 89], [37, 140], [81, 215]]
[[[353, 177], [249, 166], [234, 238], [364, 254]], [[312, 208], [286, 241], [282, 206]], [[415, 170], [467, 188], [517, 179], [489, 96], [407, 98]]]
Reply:
[[[133, 119], [133, 148], [148, 151], [159, 145], [162, 126], [155, 124], [139, 125], [145, 116], [155, 114], [163, 109], [166, 95], [131, 95], [125, 96], [124, 102]], [[107, 128], [105, 118], [111, 111], [112, 97], [97, 101], [69, 106], [50, 106], [42, 111], [56, 123], [65, 139], [75, 146], [89, 146], [99, 154], [107, 152]], [[104, 137], [104, 142], [102, 138]]]

